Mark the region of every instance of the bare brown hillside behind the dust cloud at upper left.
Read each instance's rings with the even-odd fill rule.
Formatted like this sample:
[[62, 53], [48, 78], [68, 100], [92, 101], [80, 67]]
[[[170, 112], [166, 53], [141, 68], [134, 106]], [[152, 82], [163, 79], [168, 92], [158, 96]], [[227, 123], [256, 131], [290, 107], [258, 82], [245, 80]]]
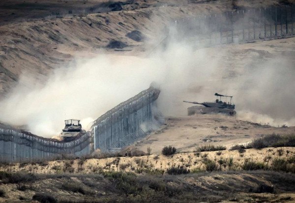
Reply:
[[[127, 44], [124, 50], [128, 55], [146, 55], [166, 37], [171, 20], [232, 8], [231, 0], [116, 2], [1, 1], [0, 97], [7, 95], [22, 74], [29, 74], [39, 82], [46, 81], [53, 69], [67, 66], [74, 57], [91, 57], [102, 50], [109, 52], [106, 46], [112, 40]], [[241, 0], [237, 6], [259, 7], [279, 2], [255, 0], [249, 4]], [[110, 7], [112, 3], [115, 4]], [[142, 32], [145, 40], [130, 39], [126, 34], [131, 31]]]

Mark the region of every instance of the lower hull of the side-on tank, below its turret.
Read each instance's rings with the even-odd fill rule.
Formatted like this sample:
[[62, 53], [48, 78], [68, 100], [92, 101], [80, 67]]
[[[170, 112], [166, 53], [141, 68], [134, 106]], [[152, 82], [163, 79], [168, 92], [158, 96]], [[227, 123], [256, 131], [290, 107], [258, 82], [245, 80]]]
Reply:
[[236, 111], [233, 109], [228, 109], [228, 108], [209, 108], [209, 107], [204, 107], [204, 106], [191, 106], [187, 108], [187, 114], [194, 115], [194, 114], [226, 114], [229, 116], [234, 116], [236, 115]]

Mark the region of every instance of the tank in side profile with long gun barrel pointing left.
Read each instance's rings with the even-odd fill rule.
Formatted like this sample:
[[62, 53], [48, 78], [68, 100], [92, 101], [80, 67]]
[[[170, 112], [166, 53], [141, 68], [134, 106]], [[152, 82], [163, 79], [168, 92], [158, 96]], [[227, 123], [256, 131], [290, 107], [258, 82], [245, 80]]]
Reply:
[[[226, 96], [226, 95], [220, 95], [218, 93], [214, 94], [216, 96], [215, 102], [188, 102], [188, 101], [183, 101], [187, 103], [193, 103], [193, 104], [200, 104], [202, 106], [191, 106], [189, 107], [188, 110], [188, 115], [193, 115], [193, 114], [206, 114], [206, 113], [213, 113], [213, 114], [227, 114], [230, 116], [233, 116], [236, 114], [235, 109], [235, 104], [232, 104], [232, 99], [233, 96]], [[219, 99], [218, 99], [219, 97]], [[222, 97], [228, 97], [230, 98], [230, 102], [222, 102], [221, 98]]]

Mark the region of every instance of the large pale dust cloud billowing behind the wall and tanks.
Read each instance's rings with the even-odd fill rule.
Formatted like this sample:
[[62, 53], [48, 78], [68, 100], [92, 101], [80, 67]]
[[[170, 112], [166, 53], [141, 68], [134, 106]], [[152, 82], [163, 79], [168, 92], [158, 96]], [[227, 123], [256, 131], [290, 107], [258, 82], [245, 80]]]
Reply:
[[171, 39], [148, 57], [105, 53], [76, 58], [45, 84], [28, 75], [0, 102], [0, 121], [27, 125], [36, 135], [58, 135], [65, 119], [91, 121], [156, 82], [165, 116], [184, 116], [183, 100], [214, 101], [215, 92], [234, 96], [238, 119], [295, 125], [293, 57], [265, 57], [243, 45], [201, 48]]

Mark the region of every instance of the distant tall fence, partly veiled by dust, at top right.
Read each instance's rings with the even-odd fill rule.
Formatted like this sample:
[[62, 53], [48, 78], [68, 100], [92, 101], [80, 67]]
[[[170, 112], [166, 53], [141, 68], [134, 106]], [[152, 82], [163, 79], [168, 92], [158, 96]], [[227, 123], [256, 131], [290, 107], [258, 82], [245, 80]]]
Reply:
[[270, 40], [295, 35], [295, 6], [251, 8], [175, 20], [177, 37], [206, 45]]

